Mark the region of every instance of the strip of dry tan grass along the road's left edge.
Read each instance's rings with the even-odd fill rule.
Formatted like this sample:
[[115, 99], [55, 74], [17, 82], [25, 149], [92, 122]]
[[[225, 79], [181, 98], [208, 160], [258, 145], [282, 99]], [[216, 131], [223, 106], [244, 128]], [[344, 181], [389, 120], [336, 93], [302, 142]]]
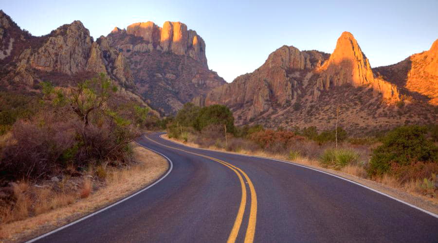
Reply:
[[[30, 188], [30, 185], [19, 183], [17, 186], [17, 195], [20, 197], [19, 207], [14, 214], [7, 214], [9, 219], [3, 219], [3, 222], [10, 223], [0, 225], [0, 239], [24, 241], [71, 222], [145, 187], [167, 170], [168, 164], [163, 157], [137, 145], [134, 145], [133, 150], [134, 158], [138, 163], [121, 170], [105, 169], [107, 174], [105, 186], [97, 191], [92, 190], [92, 181], [88, 176], [85, 177], [83, 186], [73, 194], [67, 190], [54, 194], [52, 189], [47, 187], [34, 190], [35, 196], [39, 199], [35, 203], [35, 216], [32, 217], [29, 217], [27, 210], [30, 207], [30, 197], [26, 197], [23, 193], [23, 190]], [[61, 185], [65, 183], [62, 180], [58, 185], [62, 189]], [[81, 198], [82, 191], [89, 191], [88, 197]], [[0, 213], [4, 213], [7, 209], [11, 208], [0, 208]], [[17, 217], [21, 220], [17, 221]]]

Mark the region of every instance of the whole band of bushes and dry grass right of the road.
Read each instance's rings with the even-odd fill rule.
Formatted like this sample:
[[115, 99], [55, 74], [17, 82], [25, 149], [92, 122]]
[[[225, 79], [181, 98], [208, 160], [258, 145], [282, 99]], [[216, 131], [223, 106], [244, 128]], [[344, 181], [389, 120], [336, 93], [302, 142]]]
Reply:
[[262, 125], [237, 127], [224, 105], [201, 108], [185, 104], [175, 118], [160, 125], [166, 127], [169, 138], [194, 146], [328, 168], [438, 201], [436, 124], [405, 125], [358, 137], [342, 126], [323, 131], [314, 126], [276, 130]]

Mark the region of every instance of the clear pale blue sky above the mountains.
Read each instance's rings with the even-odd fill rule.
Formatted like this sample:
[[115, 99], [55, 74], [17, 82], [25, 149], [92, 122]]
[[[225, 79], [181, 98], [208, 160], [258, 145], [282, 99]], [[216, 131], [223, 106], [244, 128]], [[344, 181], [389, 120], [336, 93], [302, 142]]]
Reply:
[[282, 45], [331, 53], [343, 31], [356, 37], [372, 67], [428, 50], [438, 38], [438, 0], [0, 0], [0, 9], [33, 35], [76, 19], [94, 39], [115, 26], [181, 21], [202, 36], [210, 69], [227, 82]]

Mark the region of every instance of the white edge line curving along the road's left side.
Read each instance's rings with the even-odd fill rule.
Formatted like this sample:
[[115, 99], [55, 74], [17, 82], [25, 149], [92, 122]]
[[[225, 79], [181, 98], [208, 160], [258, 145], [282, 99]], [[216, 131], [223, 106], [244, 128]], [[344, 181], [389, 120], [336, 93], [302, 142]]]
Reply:
[[113, 203], [113, 204], [111, 204], [111, 205], [109, 205], [109, 206], [107, 206], [107, 207], [105, 207], [105, 208], [102, 208], [102, 209], [100, 209], [100, 210], [98, 210], [98, 211], [95, 211], [95, 212], [93, 212], [93, 213], [91, 213], [91, 214], [88, 214], [87, 216], [84, 216], [84, 217], [82, 217], [82, 218], [80, 218], [80, 219], [78, 219], [78, 220], [75, 220], [75, 221], [73, 221], [72, 223], [69, 223], [69, 224], [67, 224], [67, 225], [65, 225], [65, 226], [61, 226], [61, 227], [56, 228], [56, 229], [54, 229], [54, 230], [52, 230], [52, 231], [50, 231], [50, 232], [47, 232], [47, 233], [45, 233], [45, 234], [43, 234], [43, 235], [40, 235], [40, 236], [38, 236], [38, 237], [36, 237], [36, 238], [34, 238], [34, 239], [32, 239], [32, 240], [27, 241], [26, 243], [36, 242], [37, 240], [40, 240], [40, 239], [42, 239], [42, 238], [44, 238], [44, 237], [46, 237], [46, 236], [48, 236], [48, 235], [51, 235], [51, 234], [53, 234], [53, 233], [55, 233], [55, 232], [58, 232], [58, 231], [60, 231], [60, 230], [62, 230], [62, 229], [64, 229], [64, 228], [67, 228], [67, 227], [69, 227], [69, 226], [72, 226], [72, 225], [74, 225], [74, 224], [77, 224], [77, 223], [79, 223], [79, 222], [81, 222], [81, 221], [83, 221], [83, 220], [86, 220], [86, 219], [88, 219], [88, 218], [90, 218], [90, 217], [92, 217], [92, 216], [94, 216], [94, 215], [96, 215], [96, 214], [98, 214], [98, 213], [100, 213], [100, 212], [103, 212], [103, 211], [105, 211], [105, 210], [107, 210], [107, 209], [109, 209], [109, 208], [112, 208], [112, 207], [114, 207], [114, 206], [120, 204], [120, 203], [123, 203], [123, 202], [125, 202], [126, 200], [128, 200], [129, 198], [134, 197], [134, 196], [136, 196], [136, 195], [142, 193], [143, 191], [146, 191], [147, 189], [149, 189], [149, 188], [155, 186], [158, 182], [160, 182], [160, 181], [163, 180], [168, 174], [170, 174], [170, 172], [172, 171], [172, 168], [173, 168], [172, 160], [170, 160], [167, 156], [163, 155], [163, 154], [160, 153], [160, 152], [157, 152], [157, 151], [155, 151], [155, 150], [153, 150], [153, 149], [147, 148], [147, 147], [141, 145], [140, 143], [138, 143], [137, 141], [135, 141], [135, 142], [136, 142], [138, 145], [144, 147], [145, 149], [148, 149], [148, 150], [150, 150], [150, 151], [152, 151], [152, 152], [155, 152], [155, 153], [157, 153], [157, 154], [163, 156], [164, 158], [166, 158], [167, 161], [168, 161], [168, 163], [169, 163], [169, 165], [170, 165], [170, 168], [169, 168], [169, 170], [167, 170], [167, 173], [164, 174], [160, 179], [158, 179], [157, 181], [155, 181], [155, 182], [152, 183], [151, 185], [147, 186], [146, 188], [144, 188], [144, 189], [142, 189], [142, 190], [140, 190], [140, 191], [137, 191], [136, 193], [134, 193], [134, 194], [132, 194], [132, 195], [130, 195], [130, 196], [128, 196], [128, 197], [125, 197], [124, 199], [121, 199], [120, 201], [117, 201], [117, 202], [115, 202], [115, 203]]

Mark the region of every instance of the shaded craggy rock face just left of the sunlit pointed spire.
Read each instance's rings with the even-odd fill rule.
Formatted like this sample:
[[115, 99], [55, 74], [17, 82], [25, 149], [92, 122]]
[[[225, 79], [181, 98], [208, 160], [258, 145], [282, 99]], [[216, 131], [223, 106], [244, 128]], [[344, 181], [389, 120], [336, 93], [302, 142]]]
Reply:
[[292, 104], [308, 82], [305, 76], [320, 67], [328, 54], [317, 51], [300, 52], [282, 46], [271, 53], [253, 73], [237, 77], [233, 83], [215, 88], [205, 98], [194, 100], [198, 105], [227, 104], [240, 109], [248, 107], [246, 120], [268, 111], [275, 105]]

